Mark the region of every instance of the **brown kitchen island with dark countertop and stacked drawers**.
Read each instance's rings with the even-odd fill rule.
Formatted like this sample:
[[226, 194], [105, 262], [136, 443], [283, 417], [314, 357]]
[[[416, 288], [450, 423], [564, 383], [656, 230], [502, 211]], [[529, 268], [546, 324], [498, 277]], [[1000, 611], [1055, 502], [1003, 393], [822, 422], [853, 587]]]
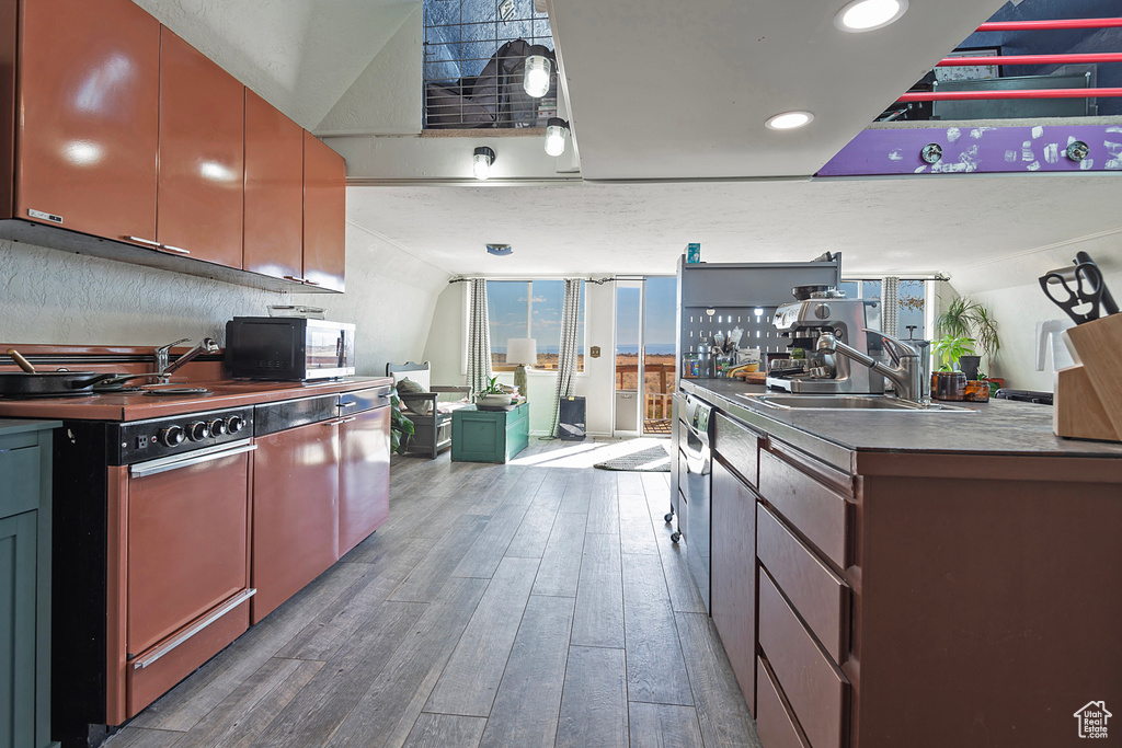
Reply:
[[1004, 400], [682, 389], [716, 410], [711, 613], [764, 748], [1078, 745], [1077, 711], [1122, 704], [1122, 445]]

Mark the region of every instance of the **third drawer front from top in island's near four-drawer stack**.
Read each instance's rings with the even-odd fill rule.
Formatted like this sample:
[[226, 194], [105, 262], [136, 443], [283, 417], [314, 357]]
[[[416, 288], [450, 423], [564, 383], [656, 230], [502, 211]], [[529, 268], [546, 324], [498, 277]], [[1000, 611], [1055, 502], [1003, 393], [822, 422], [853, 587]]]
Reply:
[[760, 571], [760, 648], [812, 748], [840, 748], [848, 682]]

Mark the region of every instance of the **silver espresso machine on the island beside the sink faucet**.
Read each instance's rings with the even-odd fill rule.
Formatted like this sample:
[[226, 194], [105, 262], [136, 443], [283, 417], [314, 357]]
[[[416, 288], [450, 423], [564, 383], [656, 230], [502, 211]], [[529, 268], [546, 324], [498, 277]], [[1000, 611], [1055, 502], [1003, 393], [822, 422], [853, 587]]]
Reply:
[[775, 329], [789, 339], [789, 359], [773, 359], [767, 367], [767, 387], [810, 395], [880, 395], [884, 378], [867, 367], [854, 364], [836, 353], [818, 350], [818, 339], [830, 333], [858, 351], [879, 359], [881, 338], [866, 334], [865, 305], [833, 288], [816, 290], [804, 301], [775, 310]]

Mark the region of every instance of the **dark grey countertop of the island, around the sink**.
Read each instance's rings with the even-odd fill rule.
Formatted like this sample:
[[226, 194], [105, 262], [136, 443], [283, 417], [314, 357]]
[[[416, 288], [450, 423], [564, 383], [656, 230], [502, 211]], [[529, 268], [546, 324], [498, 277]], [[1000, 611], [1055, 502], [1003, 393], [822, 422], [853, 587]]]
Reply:
[[683, 379], [682, 389], [728, 415], [826, 462], [852, 469], [854, 452], [945, 453], [1055, 458], [1122, 458], [1122, 444], [1060, 438], [1052, 408], [1032, 403], [953, 403], [975, 413], [893, 410], [780, 410], [739, 397], [763, 385]]

